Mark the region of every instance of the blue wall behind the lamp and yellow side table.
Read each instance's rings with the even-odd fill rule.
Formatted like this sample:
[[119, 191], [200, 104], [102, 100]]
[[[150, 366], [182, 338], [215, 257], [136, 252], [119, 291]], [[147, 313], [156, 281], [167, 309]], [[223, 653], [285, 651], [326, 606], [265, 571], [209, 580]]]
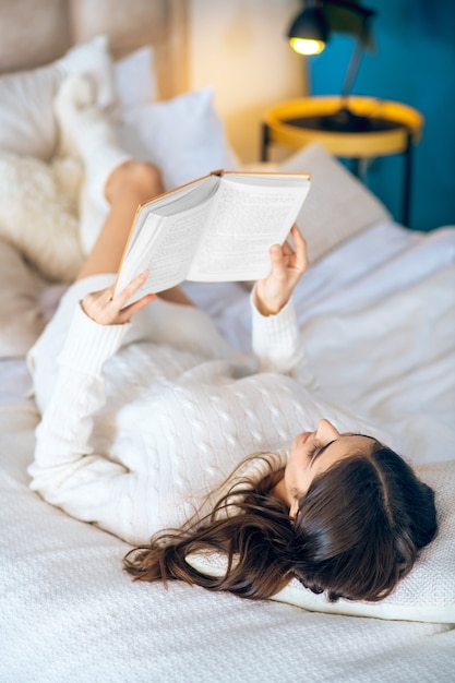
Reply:
[[[376, 52], [364, 52], [356, 95], [395, 99], [424, 116], [415, 147], [410, 227], [455, 224], [455, 0], [366, 0]], [[354, 41], [333, 35], [310, 61], [313, 95], [340, 91]], [[375, 159], [368, 184], [400, 220], [403, 157]]]

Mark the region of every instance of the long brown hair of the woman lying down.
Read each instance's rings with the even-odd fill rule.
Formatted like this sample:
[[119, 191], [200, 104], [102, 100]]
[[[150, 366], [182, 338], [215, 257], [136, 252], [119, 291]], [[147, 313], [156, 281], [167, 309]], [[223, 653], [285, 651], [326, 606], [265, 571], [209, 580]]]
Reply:
[[[371, 453], [352, 453], [315, 477], [294, 523], [271, 494], [283, 470], [271, 471], [259, 484], [237, 484], [202, 522], [130, 551], [125, 571], [137, 580], [181, 579], [250, 599], [270, 598], [294, 577], [331, 601], [383, 599], [438, 524], [430, 487], [394, 451], [373, 444]], [[187, 558], [201, 551], [225, 553], [226, 573], [191, 566]]]

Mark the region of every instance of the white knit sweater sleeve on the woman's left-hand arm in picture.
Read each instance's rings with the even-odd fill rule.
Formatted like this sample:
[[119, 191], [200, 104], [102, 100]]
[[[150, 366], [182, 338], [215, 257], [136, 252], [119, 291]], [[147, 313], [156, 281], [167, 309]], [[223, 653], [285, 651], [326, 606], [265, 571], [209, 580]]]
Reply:
[[129, 324], [98, 325], [77, 307], [58, 358], [55, 392], [36, 430], [35, 459], [28, 474], [31, 489], [47, 502], [136, 542], [132, 532], [136, 472], [93, 453], [89, 443], [93, 415], [105, 405], [101, 368], [128, 328]]

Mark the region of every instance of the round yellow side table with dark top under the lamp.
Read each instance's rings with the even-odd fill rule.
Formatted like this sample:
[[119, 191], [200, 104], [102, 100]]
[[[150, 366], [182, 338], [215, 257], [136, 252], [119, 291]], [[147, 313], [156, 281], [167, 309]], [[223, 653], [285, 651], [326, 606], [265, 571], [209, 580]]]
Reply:
[[334, 156], [360, 159], [404, 154], [403, 223], [409, 225], [412, 146], [420, 140], [423, 117], [407, 105], [374, 97], [304, 97], [268, 109], [262, 122], [261, 160], [268, 160], [273, 143], [304, 147], [321, 143]]

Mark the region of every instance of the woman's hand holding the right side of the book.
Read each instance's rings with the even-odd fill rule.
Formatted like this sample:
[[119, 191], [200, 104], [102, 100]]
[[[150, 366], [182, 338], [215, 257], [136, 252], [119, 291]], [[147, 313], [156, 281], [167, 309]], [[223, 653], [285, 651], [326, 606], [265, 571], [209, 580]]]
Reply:
[[295, 248], [289, 242], [271, 248], [272, 272], [254, 288], [254, 302], [262, 315], [276, 315], [289, 298], [308, 268], [307, 242], [295, 224], [290, 230]]

